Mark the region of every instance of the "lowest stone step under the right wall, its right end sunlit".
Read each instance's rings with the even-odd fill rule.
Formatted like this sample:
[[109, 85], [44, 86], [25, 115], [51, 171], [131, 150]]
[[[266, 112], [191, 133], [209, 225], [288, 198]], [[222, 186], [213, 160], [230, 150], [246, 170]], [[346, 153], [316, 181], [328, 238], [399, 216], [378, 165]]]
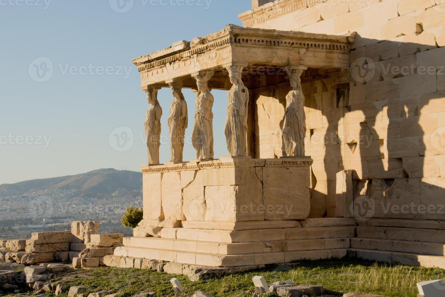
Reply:
[[348, 249], [348, 256], [377, 262], [445, 269], [445, 256], [420, 255], [407, 252], [381, 252], [369, 249]]

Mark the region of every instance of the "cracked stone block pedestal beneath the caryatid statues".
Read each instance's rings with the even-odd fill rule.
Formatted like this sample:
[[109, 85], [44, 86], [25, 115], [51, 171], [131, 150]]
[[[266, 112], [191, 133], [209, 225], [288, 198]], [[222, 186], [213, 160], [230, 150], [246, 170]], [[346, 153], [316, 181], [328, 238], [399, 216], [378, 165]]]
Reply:
[[140, 225], [305, 219], [311, 164], [310, 158], [224, 158], [142, 166]]

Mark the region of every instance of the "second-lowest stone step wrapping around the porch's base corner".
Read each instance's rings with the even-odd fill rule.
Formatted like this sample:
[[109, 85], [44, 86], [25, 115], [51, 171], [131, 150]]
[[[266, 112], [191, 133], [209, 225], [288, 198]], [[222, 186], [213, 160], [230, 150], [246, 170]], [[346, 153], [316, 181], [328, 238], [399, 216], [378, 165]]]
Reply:
[[202, 252], [223, 255], [350, 248], [350, 238], [218, 243], [158, 237], [125, 237], [123, 243], [125, 246], [136, 248], [156, 248], [180, 252]]

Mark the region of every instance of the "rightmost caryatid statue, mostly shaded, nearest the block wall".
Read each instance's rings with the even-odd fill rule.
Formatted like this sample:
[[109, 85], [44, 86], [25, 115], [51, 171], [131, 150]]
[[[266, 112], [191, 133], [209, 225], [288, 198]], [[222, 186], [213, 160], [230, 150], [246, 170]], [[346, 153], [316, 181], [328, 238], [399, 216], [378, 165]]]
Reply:
[[304, 138], [306, 136], [306, 114], [304, 113], [304, 95], [301, 89], [301, 74], [307, 66], [284, 67], [291, 80], [292, 90], [286, 96], [286, 112], [283, 124], [283, 138], [286, 155], [304, 156]]

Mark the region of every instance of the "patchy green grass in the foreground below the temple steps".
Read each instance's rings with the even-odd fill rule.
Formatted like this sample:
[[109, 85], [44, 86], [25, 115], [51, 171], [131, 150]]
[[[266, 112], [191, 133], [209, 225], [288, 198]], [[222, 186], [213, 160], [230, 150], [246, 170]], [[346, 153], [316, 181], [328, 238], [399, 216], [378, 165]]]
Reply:
[[[301, 261], [291, 264], [293, 270], [274, 272], [273, 268], [250, 273], [235, 274], [208, 281], [190, 282], [185, 276], [138, 269], [91, 269], [75, 270], [57, 275], [54, 281], [83, 285], [90, 293], [102, 290], [118, 293], [118, 296], [133, 296], [142, 292], [156, 292], [160, 296], [174, 296], [170, 279], [177, 277], [184, 286], [179, 296], [192, 296], [202, 290], [214, 296], [252, 296], [252, 277], [261, 275], [268, 284], [288, 279], [299, 284], [324, 285], [325, 293], [342, 296], [343, 293], [360, 292], [380, 295], [417, 297], [416, 283], [430, 279], [445, 278], [445, 270], [427, 269], [405, 265], [389, 265], [364, 260]], [[61, 296], [61, 295], [59, 295]], [[65, 297], [66, 295], [62, 295]], [[277, 296], [268, 294], [267, 296]]]

